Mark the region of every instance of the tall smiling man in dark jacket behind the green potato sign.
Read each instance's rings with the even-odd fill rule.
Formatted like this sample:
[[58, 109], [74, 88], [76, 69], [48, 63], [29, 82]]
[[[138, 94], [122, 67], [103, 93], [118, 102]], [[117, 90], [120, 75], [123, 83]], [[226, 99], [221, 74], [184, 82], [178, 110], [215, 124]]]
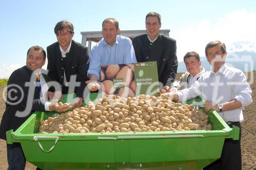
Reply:
[[170, 86], [175, 80], [178, 68], [176, 40], [160, 35], [160, 28], [160, 14], [148, 13], [146, 15], [147, 34], [135, 37], [133, 47], [137, 62], [157, 61], [159, 82], [163, 86]]

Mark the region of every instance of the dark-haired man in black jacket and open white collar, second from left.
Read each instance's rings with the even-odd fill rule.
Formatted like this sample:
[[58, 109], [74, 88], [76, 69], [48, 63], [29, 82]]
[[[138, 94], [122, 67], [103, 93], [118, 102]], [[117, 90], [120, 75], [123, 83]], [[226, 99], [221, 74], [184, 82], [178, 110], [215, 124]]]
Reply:
[[88, 48], [72, 40], [74, 27], [71, 22], [59, 21], [54, 33], [58, 41], [47, 47], [47, 69], [48, 76], [61, 85], [61, 92], [55, 92], [55, 95], [61, 99], [62, 94], [76, 93], [74, 106], [81, 106], [83, 90], [86, 87], [84, 82], [89, 80]]

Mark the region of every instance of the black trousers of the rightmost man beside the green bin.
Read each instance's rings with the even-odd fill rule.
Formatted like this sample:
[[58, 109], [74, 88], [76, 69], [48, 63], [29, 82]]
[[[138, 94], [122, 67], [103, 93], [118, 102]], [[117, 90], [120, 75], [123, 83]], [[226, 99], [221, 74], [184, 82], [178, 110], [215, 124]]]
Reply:
[[242, 156], [241, 156], [241, 125], [240, 122], [227, 123], [230, 128], [233, 125], [240, 128], [239, 140], [227, 138], [224, 141], [221, 158], [212, 162], [203, 170], [241, 170], [242, 169]]

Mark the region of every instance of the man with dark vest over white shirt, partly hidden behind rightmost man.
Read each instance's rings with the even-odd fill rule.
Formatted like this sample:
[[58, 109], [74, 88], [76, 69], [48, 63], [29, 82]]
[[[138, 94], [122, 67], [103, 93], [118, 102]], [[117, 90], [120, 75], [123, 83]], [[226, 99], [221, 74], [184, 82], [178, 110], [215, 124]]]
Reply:
[[183, 60], [186, 65], [187, 72], [181, 76], [180, 82], [174, 82], [174, 86], [170, 88], [170, 92], [176, 92], [178, 90], [191, 87], [191, 85], [194, 84], [205, 72], [204, 67], [200, 67], [200, 56], [196, 52], [186, 53]]

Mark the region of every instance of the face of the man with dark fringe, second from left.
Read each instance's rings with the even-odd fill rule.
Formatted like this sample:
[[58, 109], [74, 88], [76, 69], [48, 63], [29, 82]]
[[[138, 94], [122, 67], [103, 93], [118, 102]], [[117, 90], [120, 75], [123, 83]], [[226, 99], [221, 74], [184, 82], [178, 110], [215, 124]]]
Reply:
[[58, 31], [57, 40], [63, 51], [66, 51], [70, 45], [70, 42], [74, 36], [74, 33], [70, 33], [67, 28], [62, 31]]

